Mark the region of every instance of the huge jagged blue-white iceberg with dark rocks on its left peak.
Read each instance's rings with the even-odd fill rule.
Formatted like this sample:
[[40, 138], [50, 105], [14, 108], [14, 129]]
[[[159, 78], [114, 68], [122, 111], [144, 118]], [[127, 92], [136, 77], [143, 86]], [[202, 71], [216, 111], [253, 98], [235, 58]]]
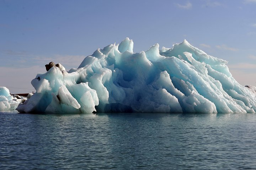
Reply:
[[36, 93], [20, 113], [165, 112], [255, 113], [256, 95], [240, 85], [228, 62], [186, 40], [171, 49], [159, 44], [133, 53], [124, 39], [85, 57], [68, 72], [51, 63], [31, 81]]

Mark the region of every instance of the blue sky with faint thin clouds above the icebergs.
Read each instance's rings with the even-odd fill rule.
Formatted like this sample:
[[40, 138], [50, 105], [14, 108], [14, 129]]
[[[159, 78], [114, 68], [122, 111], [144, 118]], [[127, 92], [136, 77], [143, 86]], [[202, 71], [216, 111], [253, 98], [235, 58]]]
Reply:
[[186, 39], [228, 60], [240, 84], [256, 86], [255, 8], [256, 0], [0, 0], [0, 86], [32, 92], [30, 81], [50, 61], [77, 68], [126, 37], [134, 52]]

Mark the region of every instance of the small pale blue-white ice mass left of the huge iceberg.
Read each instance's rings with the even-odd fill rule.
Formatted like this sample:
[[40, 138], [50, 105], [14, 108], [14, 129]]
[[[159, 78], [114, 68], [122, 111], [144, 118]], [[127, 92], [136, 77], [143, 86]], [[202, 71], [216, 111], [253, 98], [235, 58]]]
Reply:
[[0, 87], [0, 111], [15, 111], [18, 104], [27, 100], [26, 97], [11, 95], [9, 89]]

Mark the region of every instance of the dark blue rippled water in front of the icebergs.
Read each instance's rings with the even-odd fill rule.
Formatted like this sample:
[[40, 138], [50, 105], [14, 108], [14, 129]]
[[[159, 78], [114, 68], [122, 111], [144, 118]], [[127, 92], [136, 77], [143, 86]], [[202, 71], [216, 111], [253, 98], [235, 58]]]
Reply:
[[256, 169], [256, 114], [0, 113], [0, 169]]

